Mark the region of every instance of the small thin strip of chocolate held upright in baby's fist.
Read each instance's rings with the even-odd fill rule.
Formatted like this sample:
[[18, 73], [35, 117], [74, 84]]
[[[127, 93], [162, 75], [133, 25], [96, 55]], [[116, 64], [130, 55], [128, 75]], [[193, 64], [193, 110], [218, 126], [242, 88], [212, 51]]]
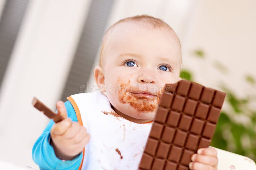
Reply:
[[59, 114], [54, 113], [51, 109], [49, 109], [47, 106], [45, 106], [42, 102], [40, 102], [36, 97], [32, 100], [32, 105], [38, 109], [39, 111], [42, 111], [44, 115], [52, 119], [54, 122], [60, 122], [64, 119], [64, 117], [60, 116]]

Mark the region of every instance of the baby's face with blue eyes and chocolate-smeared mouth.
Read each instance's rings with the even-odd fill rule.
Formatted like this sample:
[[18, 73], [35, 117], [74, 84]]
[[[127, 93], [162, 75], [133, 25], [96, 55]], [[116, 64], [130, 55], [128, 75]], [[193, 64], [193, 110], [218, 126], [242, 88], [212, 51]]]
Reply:
[[153, 119], [164, 85], [179, 81], [181, 53], [175, 33], [123, 23], [110, 32], [105, 47], [109, 102], [130, 117]]

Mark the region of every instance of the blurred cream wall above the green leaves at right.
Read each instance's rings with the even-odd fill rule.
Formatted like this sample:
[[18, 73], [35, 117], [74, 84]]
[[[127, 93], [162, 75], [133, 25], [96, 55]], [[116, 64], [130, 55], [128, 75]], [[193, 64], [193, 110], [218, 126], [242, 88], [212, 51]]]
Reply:
[[[198, 82], [219, 88], [222, 81], [239, 96], [255, 94], [255, 87], [244, 81], [247, 73], [256, 77], [255, 9], [254, 0], [200, 0], [183, 42], [183, 66], [193, 70]], [[195, 49], [206, 52], [204, 60], [193, 57]], [[214, 61], [225, 65], [227, 74], [213, 67]]]

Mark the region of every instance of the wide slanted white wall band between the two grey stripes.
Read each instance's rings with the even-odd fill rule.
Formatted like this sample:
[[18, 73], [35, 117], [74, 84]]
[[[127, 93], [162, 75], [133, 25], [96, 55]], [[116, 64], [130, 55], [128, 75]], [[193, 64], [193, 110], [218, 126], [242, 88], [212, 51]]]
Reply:
[[49, 120], [31, 100], [55, 109], [90, 1], [30, 2], [0, 92], [0, 160], [38, 167], [32, 146]]

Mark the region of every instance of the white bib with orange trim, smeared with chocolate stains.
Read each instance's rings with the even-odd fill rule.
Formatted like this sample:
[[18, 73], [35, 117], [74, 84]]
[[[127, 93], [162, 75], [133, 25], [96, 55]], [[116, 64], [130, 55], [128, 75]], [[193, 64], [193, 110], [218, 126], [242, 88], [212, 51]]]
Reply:
[[[68, 100], [73, 107], [77, 105], [76, 115], [80, 111], [83, 125], [91, 135], [85, 146], [82, 169], [138, 169], [152, 122], [138, 124], [120, 117], [102, 93], [79, 93], [71, 97]], [[77, 119], [79, 122], [79, 116]]]

